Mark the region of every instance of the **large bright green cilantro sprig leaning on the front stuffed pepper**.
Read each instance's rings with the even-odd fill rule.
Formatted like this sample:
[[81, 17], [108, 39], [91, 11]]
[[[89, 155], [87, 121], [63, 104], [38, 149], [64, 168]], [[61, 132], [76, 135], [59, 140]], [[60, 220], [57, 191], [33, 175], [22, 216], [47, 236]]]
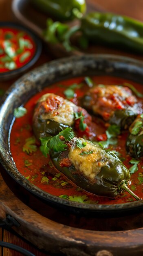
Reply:
[[[60, 140], [60, 136], [64, 137], [64, 140]], [[65, 144], [65, 141], [71, 141], [74, 138], [74, 132], [72, 128], [67, 127], [66, 129], [59, 132], [59, 134], [55, 135], [54, 137], [45, 137], [40, 138], [41, 140], [41, 146], [40, 150], [43, 153], [45, 157], [50, 153], [50, 150], [53, 150], [55, 152], [61, 152], [65, 151], [67, 148], [67, 145]]]

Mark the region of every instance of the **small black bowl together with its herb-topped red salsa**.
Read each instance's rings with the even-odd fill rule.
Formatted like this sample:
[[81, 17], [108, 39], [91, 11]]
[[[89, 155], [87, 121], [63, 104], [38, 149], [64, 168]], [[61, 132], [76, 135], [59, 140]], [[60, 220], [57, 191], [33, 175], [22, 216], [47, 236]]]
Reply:
[[40, 56], [42, 44], [29, 29], [0, 23], [0, 78], [11, 79], [27, 70]]

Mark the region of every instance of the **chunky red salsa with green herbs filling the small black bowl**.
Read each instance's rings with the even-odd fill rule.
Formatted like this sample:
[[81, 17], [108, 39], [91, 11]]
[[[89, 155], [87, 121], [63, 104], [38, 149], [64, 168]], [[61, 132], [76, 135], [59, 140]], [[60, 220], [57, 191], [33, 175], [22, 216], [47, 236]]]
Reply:
[[35, 54], [35, 43], [25, 31], [0, 28], [0, 72], [9, 72], [26, 65]]

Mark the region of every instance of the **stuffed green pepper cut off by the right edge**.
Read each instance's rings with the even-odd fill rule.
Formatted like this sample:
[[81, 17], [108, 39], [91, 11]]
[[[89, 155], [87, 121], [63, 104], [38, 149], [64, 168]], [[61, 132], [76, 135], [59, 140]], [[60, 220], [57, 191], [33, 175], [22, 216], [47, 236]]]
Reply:
[[129, 127], [126, 150], [134, 158], [143, 157], [143, 114], [136, 117]]

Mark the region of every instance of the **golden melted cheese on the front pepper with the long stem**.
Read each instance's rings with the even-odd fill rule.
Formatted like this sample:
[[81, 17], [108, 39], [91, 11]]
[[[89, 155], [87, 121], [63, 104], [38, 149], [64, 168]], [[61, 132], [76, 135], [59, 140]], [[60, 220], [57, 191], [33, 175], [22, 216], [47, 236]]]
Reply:
[[[86, 142], [87, 144], [84, 148], [71, 147], [68, 157], [76, 170], [93, 182], [101, 167], [109, 164], [110, 157], [100, 146], [94, 145], [90, 141]], [[87, 153], [93, 151], [93, 153], [80, 155], [84, 151]]]

